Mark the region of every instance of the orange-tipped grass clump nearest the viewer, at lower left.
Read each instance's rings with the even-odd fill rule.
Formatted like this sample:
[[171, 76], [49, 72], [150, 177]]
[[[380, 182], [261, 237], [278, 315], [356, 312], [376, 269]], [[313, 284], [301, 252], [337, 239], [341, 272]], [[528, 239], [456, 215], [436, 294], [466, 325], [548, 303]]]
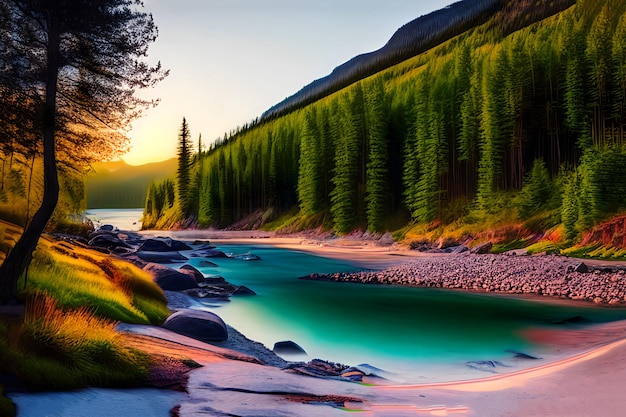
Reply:
[[52, 297], [32, 294], [18, 346], [0, 350], [2, 363], [42, 387], [134, 385], [147, 375], [149, 359], [124, 346], [116, 324], [86, 307], [62, 309]]

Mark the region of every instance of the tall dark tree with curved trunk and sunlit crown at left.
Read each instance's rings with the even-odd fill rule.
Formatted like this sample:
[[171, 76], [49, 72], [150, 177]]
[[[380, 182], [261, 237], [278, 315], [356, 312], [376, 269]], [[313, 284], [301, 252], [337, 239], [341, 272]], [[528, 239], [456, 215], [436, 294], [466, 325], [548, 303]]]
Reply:
[[[0, 302], [9, 303], [57, 205], [56, 147], [74, 158], [125, 150], [125, 129], [152, 102], [137, 89], [166, 74], [145, 62], [156, 40], [140, 0], [5, 0], [0, 43], [10, 44], [0, 69], [5, 88], [31, 91], [43, 142], [44, 191], [32, 221], [0, 267]], [[17, 71], [20, 68], [24, 71]], [[70, 146], [71, 145], [71, 146]]]

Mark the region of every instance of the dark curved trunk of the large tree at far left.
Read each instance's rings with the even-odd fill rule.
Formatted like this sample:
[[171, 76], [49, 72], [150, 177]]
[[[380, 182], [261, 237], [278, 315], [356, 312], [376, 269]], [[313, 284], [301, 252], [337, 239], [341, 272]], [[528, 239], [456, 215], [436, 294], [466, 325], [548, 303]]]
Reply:
[[24, 233], [0, 266], [0, 304], [15, 302], [17, 281], [24, 274], [59, 200], [59, 178], [54, 150], [56, 131], [56, 94], [59, 73], [60, 36], [54, 17], [48, 28], [46, 62], [46, 103], [43, 116], [44, 191], [39, 209]]

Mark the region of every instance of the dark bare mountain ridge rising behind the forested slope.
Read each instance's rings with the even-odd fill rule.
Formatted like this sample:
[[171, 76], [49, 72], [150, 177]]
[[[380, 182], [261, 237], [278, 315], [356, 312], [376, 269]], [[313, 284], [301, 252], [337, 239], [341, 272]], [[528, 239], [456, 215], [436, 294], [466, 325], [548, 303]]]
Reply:
[[358, 55], [274, 105], [262, 119], [279, 117], [370, 75], [419, 55], [495, 16], [510, 33], [565, 10], [575, 0], [462, 0], [407, 23], [382, 48]]

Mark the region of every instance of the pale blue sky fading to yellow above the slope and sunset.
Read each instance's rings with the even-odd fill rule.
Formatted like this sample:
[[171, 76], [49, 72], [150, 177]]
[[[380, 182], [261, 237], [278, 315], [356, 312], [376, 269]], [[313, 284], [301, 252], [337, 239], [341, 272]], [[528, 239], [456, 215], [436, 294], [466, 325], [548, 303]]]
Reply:
[[144, 0], [159, 28], [148, 61], [170, 75], [139, 93], [161, 101], [133, 123], [122, 159], [140, 165], [175, 157], [183, 117], [194, 144], [199, 135], [213, 142], [453, 2]]

